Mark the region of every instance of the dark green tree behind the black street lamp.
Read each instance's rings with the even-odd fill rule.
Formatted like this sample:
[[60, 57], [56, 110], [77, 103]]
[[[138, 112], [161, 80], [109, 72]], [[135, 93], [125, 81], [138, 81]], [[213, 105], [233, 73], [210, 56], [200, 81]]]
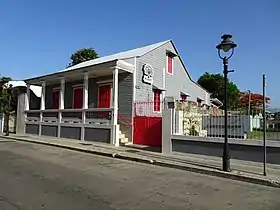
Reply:
[[[224, 103], [224, 76], [222, 74], [210, 74], [206, 72], [198, 79], [198, 84], [212, 93], [212, 98], [218, 98]], [[240, 91], [236, 84], [229, 81], [228, 85], [228, 107], [239, 108]]]

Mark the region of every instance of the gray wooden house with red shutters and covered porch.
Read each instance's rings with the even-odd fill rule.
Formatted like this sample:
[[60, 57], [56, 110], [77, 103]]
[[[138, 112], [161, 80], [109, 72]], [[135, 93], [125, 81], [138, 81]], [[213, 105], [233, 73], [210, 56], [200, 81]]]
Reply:
[[116, 146], [161, 145], [161, 111], [166, 98], [211, 106], [210, 93], [191, 79], [171, 40], [25, 82], [28, 89], [42, 87], [40, 110], [33, 109], [30, 101], [25, 107], [26, 133]]

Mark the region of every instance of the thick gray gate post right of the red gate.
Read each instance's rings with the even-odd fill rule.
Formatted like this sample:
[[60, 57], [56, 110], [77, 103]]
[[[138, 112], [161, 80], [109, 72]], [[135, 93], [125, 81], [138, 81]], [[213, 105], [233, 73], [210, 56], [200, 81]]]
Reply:
[[172, 152], [172, 125], [174, 109], [164, 109], [162, 111], [162, 153], [170, 154]]

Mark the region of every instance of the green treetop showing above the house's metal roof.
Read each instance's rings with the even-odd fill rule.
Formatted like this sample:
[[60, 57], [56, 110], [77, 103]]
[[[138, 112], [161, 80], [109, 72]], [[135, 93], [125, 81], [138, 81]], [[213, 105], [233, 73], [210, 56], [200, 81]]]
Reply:
[[71, 62], [67, 67], [71, 67], [84, 61], [98, 58], [98, 53], [93, 48], [82, 48], [73, 53], [70, 57]]

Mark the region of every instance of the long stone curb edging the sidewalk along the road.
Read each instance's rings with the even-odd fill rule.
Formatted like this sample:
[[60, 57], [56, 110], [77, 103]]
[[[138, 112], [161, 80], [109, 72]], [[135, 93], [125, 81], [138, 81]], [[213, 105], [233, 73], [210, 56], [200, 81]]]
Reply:
[[220, 171], [220, 170], [203, 168], [203, 167], [199, 167], [199, 166], [180, 165], [177, 163], [170, 163], [170, 162], [162, 161], [162, 160], [152, 160], [152, 159], [146, 159], [146, 158], [140, 158], [140, 157], [132, 157], [132, 156], [121, 154], [121, 153], [87, 150], [87, 149], [66, 146], [66, 145], [61, 145], [61, 144], [56, 144], [56, 143], [22, 139], [22, 138], [18, 138], [18, 137], [5, 136], [5, 138], [14, 139], [16, 141], [21, 141], [21, 142], [29, 142], [29, 143], [34, 143], [34, 144], [46, 145], [46, 146], [54, 146], [54, 147], [58, 147], [58, 148], [62, 148], [62, 149], [69, 149], [69, 150], [73, 150], [73, 151], [77, 151], [77, 152], [84, 152], [84, 153], [94, 154], [94, 155], [99, 155], [99, 156], [104, 156], [104, 157], [111, 157], [111, 158], [116, 158], [116, 159], [121, 159], [121, 160], [128, 160], [128, 161], [133, 161], [133, 162], [152, 164], [152, 165], [165, 167], [165, 168], [174, 168], [174, 169], [178, 169], [178, 170], [184, 170], [184, 171], [189, 171], [189, 172], [194, 172], [194, 173], [199, 173], [199, 174], [211, 175], [211, 176], [216, 176], [216, 177], [221, 177], [221, 178], [228, 178], [228, 179], [232, 179], [232, 180], [243, 181], [243, 182], [259, 184], [259, 185], [265, 185], [265, 186], [274, 187], [274, 188], [280, 188], [280, 181], [271, 180], [271, 179], [267, 179], [267, 178], [250, 177], [250, 176], [244, 175], [242, 173], [238, 174], [236, 172], [234, 172], [234, 173], [233, 172], [224, 172], [224, 171]]

